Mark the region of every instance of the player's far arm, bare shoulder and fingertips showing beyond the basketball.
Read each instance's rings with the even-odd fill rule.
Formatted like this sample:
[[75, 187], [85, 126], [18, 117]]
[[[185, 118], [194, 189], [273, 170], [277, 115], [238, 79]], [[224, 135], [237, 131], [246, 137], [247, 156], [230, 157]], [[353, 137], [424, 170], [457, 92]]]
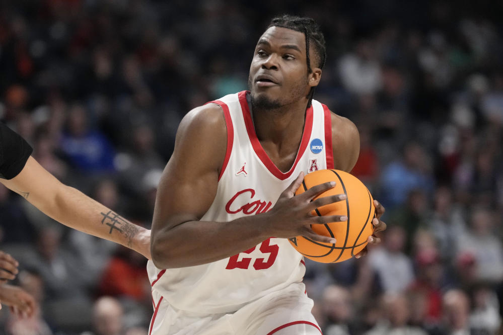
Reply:
[[[351, 172], [360, 154], [360, 134], [358, 129], [349, 119], [332, 113], [332, 148], [335, 169]], [[379, 243], [381, 239], [375, 236], [376, 232], [386, 230], [386, 223], [380, 218], [385, 212], [384, 206], [374, 200], [376, 217], [372, 220], [374, 234], [369, 236], [369, 243]], [[367, 253], [367, 248], [356, 255], [360, 258]]]

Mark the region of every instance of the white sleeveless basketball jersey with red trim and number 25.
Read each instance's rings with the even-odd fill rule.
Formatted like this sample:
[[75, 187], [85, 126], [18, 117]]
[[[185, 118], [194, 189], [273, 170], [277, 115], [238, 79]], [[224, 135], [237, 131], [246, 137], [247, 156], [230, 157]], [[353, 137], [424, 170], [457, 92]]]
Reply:
[[[326, 106], [313, 100], [295, 162], [289, 172], [282, 173], [260, 145], [247, 94], [243, 91], [212, 102], [225, 114], [227, 153], [217, 195], [201, 221], [227, 222], [266, 212], [301, 171], [333, 169], [331, 116]], [[217, 262], [161, 270], [149, 261], [147, 269], [154, 297], [175, 308], [205, 314], [232, 313], [301, 282], [306, 270], [302, 255], [290, 242], [274, 237]]]

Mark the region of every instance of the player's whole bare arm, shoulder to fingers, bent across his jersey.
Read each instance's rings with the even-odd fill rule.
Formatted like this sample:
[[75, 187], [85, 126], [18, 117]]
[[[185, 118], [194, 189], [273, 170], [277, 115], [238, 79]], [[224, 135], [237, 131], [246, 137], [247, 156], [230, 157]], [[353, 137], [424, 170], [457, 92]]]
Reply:
[[214, 262], [275, 236], [315, 234], [311, 224], [340, 221], [339, 216], [314, 217], [311, 210], [340, 195], [311, 202], [332, 188], [326, 183], [294, 198], [303, 175], [286, 189], [267, 213], [230, 222], [199, 221], [217, 194], [220, 169], [226, 154], [227, 128], [222, 109], [208, 104], [189, 112], [178, 128], [175, 150], [159, 185], [152, 225], [152, 260], [160, 269]]

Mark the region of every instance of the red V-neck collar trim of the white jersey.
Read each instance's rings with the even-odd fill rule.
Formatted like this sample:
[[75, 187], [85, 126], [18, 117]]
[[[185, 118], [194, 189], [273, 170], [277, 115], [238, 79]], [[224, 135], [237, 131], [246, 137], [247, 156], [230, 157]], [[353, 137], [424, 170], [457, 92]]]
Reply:
[[250, 108], [248, 107], [248, 102], [246, 101], [246, 93], [247, 91], [242, 91], [238, 94], [238, 97], [239, 97], [239, 103], [241, 104], [241, 110], [243, 111], [243, 118], [245, 121], [246, 131], [248, 132], [248, 137], [253, 146], [253, 150], [257, 154], [258, 158], [265, 165], [267, 170], [269, 170], [269, 172], [274, 177], [276, 177], [279, 180], [285, 180], [294, 173], [297, 163], [301, 159], [302, 155], [304, 154], [304, 151], [306, 151], [306, 148], [308, 146], [309, 139], [311, 138], [311, 132], [313, 130], [313, 106], [309, 107], [306, 110], [306, 121], [304, 124], [304, 131], [302, 133], [301, 145], [299, 146], [299, 151], [297, 152], [295, 162], [292, 165], [289, 172], [282, 173], [276, 167], [276, 165], [274, 165], [274, 163], [269, 158], [267, 153], [265, 153], [264, 148], [262, 147], [260, 141], [258, 140], [257, 133], [255, 132], [255, 128], [253, 126], [253, 120], [251, 118]]

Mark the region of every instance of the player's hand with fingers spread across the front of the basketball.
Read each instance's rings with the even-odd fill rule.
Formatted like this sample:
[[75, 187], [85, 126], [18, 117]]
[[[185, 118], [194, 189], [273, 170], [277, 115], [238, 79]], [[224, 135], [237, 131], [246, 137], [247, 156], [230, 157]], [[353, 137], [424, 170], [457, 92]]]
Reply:
[[304, 173], [301, 172], [299, 177], [281, 193], [274, 207], [265, 213], [269, 216], [267, 224], [272, 230], [271, 236], [283, 238], [304, 236], [319, 242], [335, 243], [333, 237], [314, 232], [311, 225], [346, 221], [347, 217], [342, 215], [315, 216], [311, 212], [315, 208], [342, 201], [346, 199], [346, 195], [337, 194], [313, 200], [335, 186], [335, 182], [328, 182], [314, 186], [296, 196], [295, 191], [302, 185], [303, 180]]

